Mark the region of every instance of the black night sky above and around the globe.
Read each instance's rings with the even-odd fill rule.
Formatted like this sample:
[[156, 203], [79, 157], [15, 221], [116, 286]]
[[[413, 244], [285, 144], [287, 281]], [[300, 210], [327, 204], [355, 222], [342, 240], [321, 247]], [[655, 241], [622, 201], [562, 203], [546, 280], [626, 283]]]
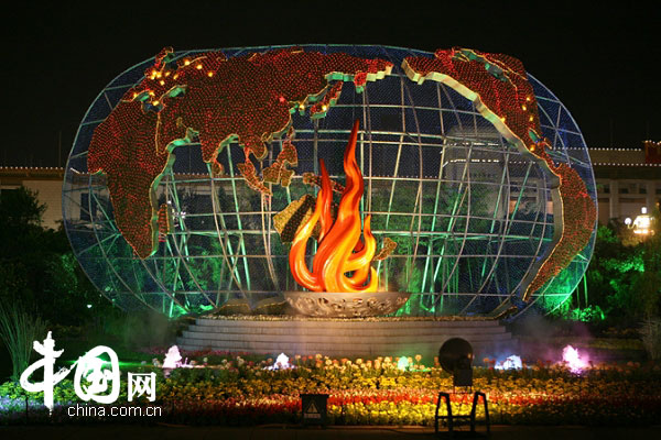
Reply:
[[[124, 69], [175, 51], [274, 44], [464, 46], [520, 58], [567, 107], [590, 147], [661, 141], [660, 8], [594, 2], [13, 2], [3, 10], [1, 166], [61, 164], [87, 108]], [[280, 3], [280, 2], [272, 2]], [[537, 3], [537, 2], [529, 2]], [[37, 3], [35, 3], [37, 4]], [[63, 6], [64, 4], [64, 6]], [[596, 9], [598, 8], [598, 9]], [[256, 11], [257, 10], [257, 11]]]

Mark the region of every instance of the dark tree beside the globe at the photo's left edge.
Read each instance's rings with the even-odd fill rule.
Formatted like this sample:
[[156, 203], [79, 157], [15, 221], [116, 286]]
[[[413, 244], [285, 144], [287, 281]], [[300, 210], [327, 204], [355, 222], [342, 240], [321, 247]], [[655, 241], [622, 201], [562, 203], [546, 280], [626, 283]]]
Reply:
[[17, 302], [51, 323], [79, 326], [111, 306], [83, 273], [64, 229], [42, 227], [45, 208], [24, 187], [2, 191], [0, 301]]

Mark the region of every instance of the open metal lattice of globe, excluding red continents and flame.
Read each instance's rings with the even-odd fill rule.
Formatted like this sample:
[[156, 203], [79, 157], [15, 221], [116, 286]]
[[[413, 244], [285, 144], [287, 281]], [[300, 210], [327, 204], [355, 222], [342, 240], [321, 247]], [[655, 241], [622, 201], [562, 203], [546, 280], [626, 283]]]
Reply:
[[[228, 58], [282, 46], [223, 50]], [[113, 79], [78, 129], [63, 188], [64, 226], [78, 262], [111, 301], [124, 309], [152, 308], [176, 316], [246, 298], [251, 304], [296, 290], [288, 250], [272, 217], [316, 189], [304, 172], [318, 174], [324, 158], [332, 178], [343, 180], [342, 154], [353, 121], [360, 120], [358, 164], [366, 193], [361, 209], [372, 215], [379, 243], [399, 246], [377, 262], [389, 289], [412, 292], [400, 315], [488, 314], [520, 297], [524, 275], [550, 251], [554, 231], [550, 176], [509, 145], [473, 103], [435, 81], [418, 85], [401, 69], [405, 56], [430, 53], [384, 46], [305, 45], [305, 51], [344, 52], [393, 63], [392, 75], [368, 82], [362, 94], [345, 84], [342, 97], [318, 120], [293, 116], [299, 166], [290, 188], [273, 186], [262, 198], [238, 174], [242, 152], [234, 143], [219, 154], [227, 176], [213, 178], [198, 144], [175, 150], [176, 162], [161, 180], [159, 204], [174, 212], [174, 231], [145, 260], [133, 254], [112, 217], [106, 177], [87, 173], [95, 128], [121, 96], [142, 79], [152, 59]], [[199, 52], [177, 52], [176, 58]], [[596, 189], [586, 145], [560, 100], [529, 75], [553, 160], [570, 164], [593, 200]], [[269, 145], [263, 166], [281, 140]], [[524, 307], [551, 311], [574, 290], [589, 262], [595, 234], [560, 275]], [[312, 248], [312, 246], [311, 246]], [[311, 249], [311, 251], [313, 251]]]

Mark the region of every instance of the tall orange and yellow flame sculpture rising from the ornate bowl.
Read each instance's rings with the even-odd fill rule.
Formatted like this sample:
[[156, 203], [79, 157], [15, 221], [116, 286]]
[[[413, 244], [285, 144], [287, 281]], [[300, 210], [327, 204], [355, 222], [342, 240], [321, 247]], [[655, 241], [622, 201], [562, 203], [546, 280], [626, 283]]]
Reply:
[[[370, 216], [365, 218], [365, 238], [364, 241], [360, 240], [359, 204], [365, 184], [356, 162], [358, 125], [356, 121], [345, 148], [347, 182], [337, 217], [334, 219], [332, 212], [330, 178], [324, 161], [319, 160], [322, 189], [312, 217], [301, 224], [292, 242], [289, 255], [292, 275], [296, 283], [313, 292], [358, 293], [378, 289], [377, 271], [370, 265], [377, 250], [377, 241], [370, 229]], [[318, 249], [310, 272], [305, 264], [305, 248], [317, 222], [321, 222]], [[349, 276], [348, 273], [353, 275]]]

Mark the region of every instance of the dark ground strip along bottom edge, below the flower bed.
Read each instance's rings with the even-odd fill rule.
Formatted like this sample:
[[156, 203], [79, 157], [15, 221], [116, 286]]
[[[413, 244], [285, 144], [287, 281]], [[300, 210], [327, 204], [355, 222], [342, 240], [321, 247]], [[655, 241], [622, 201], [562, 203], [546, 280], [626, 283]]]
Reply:
[[[468, 438], [462, 432], [455, 438]], [[478, 428], [484, 438], [484, 427]], [[296, 426], [261, 426], [252, 428], [226, 427], [185, 427], [164, 426], [153, 427], [134, 425], [105, 426], [12, 426], [0, 427], [2, 439], [42, 439], [42, 440], [225, 440], [225, 439], [434, 439], [449, 438], [447, 433], [435, 436], [430, 428], [390, 428], [390, 427], [328, 427], [302, 428]], [[494, 440], [608, 440], [608, 439], [660, 439], [661, 425], [647, 428], [614, 428], [614, 427], [546, 427], [546, 426], [494, 426], [490, 439]]]

